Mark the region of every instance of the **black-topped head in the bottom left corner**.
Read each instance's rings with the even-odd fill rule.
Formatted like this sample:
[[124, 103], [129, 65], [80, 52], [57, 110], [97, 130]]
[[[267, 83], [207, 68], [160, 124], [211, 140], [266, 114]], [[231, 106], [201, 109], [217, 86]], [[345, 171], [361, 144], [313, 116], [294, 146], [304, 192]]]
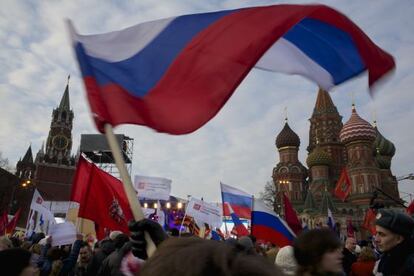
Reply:
[[7, 276], [35, 276], [36, 268], [30, 265], [30, 252], [22, 248], [0, 251], [0, 274]]

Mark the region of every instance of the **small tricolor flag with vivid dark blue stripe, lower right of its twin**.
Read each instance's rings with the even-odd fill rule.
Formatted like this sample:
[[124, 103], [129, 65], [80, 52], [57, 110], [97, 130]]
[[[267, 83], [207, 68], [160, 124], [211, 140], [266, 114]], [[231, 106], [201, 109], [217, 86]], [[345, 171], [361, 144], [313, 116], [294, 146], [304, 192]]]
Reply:
[[254, 200], [251, 225], [253, 236], [279, 247], [291, 245], [296, 237], [287, 223], [258, 199]]

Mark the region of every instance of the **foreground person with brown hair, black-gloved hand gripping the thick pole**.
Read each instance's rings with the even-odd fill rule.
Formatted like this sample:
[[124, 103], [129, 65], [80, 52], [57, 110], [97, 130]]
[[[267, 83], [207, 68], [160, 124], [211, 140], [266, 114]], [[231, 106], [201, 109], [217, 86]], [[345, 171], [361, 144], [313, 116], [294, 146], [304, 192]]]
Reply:
[[[237, 248], [237, 244], [230, 245], [198, 237], [167, 237], [158, 223], [148, 219], [130, 222], [129, 229], [133, 254], [147, 260], [140, 268], [140, 276], [282, 275], [265, 258], [257, 254], [246, 254], [244, 250]], [[144, 231], [149, 233], [157, 246], [150, 258], [145, 251]]]

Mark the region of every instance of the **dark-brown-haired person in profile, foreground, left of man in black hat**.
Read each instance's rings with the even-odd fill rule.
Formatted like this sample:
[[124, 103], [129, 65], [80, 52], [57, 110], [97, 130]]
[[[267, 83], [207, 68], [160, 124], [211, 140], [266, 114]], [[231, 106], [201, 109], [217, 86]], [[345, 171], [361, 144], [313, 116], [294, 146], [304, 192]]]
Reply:
[[298, 263], [297, 275], [341, 275], [342, 246], [327, 228], [302, 232], [293, 243]]

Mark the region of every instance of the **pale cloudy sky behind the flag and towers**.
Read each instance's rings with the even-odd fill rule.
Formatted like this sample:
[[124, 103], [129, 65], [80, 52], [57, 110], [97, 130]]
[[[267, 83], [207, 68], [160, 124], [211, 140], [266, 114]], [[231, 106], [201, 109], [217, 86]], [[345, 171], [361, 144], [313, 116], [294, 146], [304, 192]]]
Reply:
[[[78, 148], [81, 134], [97, 133], [69, 43], [66, 18], [79, 33], [95, 34], [189, 13], [306, 2], [4, 0], [7, 9], [0, 9], [0, 151], [15, 165], [30, 144], [34, 154], [39, 150], [68, 74], [75, 113], [72, 150]], [[344, 122], [351, 113], [352, 94], [363, 118], [372, 121], [376, 114], [380, 131], [397, 148], [393, 173], [401, 176], [414, 172], [412, 1], [319, 3], [346, 14], [394, 56], [395, 74], [374, 98], [368, 94], [366, 75], [336, 87], [331, 96]], [[290, 126], [301, 138], [299, 155], [305, 164], [308, 119], [316, 94], [316, 85], [302, 77], [253, 70], [219, 114], [192, 134], [170, 136], [142, 126], [120, 126], [115, 132], [135, 139], [132, 173], [172, 179], [176, 196], [218, 201], [220, 181], [257, 195], [279, 162], [274, 141], [283, 127], [284, 107]], [[414, 193], [414, 182], [402, 181], [399, 188]], [[402, 196], [409, 199], [406, 194]]]

